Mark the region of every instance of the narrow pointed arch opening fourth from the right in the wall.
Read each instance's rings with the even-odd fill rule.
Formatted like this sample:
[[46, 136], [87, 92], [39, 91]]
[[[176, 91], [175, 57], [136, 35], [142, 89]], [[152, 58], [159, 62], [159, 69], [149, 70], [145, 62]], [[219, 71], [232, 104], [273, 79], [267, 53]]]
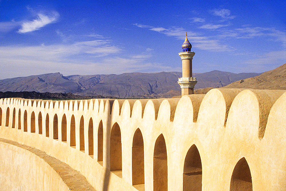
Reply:
[[144, 184], [144, 141], [142, 132], [136, 129], [132, 143], [132, 185]]

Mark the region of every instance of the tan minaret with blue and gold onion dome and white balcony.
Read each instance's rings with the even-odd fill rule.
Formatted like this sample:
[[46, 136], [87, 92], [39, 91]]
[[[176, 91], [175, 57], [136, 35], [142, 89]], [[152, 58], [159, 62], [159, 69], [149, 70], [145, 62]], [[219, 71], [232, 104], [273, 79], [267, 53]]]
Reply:
[[186, 33], [186, 40], [182, 45], [183, 51], [179, 53], [182, 60], [182, 78], [179, 78], [178, 84], [182, 89], [182, 96], [194, 94], [194, 87], [197, 83], [196, 77], [192, 77], [192, 59], [195, 53], [191, 52], [191, 48], [192, 45]]

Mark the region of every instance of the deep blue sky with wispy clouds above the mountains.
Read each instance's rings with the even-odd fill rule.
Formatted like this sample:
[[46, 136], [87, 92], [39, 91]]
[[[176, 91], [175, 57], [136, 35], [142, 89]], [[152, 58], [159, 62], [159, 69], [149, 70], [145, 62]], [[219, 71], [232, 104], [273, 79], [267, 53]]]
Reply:
[[0, 79], [181, 71], [265, 72], [286, 63], [286, 3], [0, 0]]

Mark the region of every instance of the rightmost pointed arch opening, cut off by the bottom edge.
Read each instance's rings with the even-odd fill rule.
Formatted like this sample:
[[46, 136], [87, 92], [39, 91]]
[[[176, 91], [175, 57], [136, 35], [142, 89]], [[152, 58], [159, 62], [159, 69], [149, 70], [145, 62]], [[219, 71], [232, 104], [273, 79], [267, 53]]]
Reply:
[[252, 191], [251, 172], [244, 157], [237, 162], [233, 169], [230, 191]]

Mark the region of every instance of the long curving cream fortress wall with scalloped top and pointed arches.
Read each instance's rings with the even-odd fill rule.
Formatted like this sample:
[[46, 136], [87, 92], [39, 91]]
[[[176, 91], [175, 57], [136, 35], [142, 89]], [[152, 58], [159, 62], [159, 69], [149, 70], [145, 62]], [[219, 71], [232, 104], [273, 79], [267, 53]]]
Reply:
[[285, 91], [250, 89], [153, 100], [8, 98], [0, 100], [0, 136], [69, 164], [96, 190], [285, 190], [285, 103]]

